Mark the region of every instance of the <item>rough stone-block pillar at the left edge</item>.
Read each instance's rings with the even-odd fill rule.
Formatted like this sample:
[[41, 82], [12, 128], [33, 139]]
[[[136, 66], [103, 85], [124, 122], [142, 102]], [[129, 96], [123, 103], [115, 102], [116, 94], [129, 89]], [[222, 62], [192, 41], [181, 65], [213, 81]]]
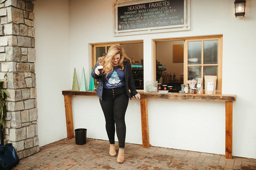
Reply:
[[8, 75], [5, 143], [19, 158], [39, 151], [35, 74], [34, 4], [0, 0], [0, 79]]

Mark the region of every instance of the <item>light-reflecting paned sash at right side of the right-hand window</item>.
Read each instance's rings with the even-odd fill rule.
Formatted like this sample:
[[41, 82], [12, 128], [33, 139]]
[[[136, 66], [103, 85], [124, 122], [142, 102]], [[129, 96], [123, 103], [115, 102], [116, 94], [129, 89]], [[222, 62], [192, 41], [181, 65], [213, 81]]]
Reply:
[[222, 37], [185, 40], [185, 80], [217, 75], [216, 92], [221, 93]]

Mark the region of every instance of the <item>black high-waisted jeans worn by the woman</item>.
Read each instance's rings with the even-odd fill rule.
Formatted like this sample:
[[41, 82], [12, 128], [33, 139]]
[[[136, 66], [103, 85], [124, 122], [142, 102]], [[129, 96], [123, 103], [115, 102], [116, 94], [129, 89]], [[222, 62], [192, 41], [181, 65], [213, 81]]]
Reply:
[[129, 103], [125, 87], [103, 89], [100, 105], [106, 120], [106, 130], [110, 144], [115, 143], [115, 124], [119, 148], [124, 148], [125, 143], [125, 112]]

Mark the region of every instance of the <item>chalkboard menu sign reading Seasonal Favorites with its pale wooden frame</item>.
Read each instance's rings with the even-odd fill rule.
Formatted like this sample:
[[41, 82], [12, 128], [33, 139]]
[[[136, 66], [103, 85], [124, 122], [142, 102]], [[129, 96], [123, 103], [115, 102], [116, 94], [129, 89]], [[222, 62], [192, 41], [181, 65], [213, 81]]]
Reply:
[[190, 0], [113, 4], [114, 36], [190, 30]]

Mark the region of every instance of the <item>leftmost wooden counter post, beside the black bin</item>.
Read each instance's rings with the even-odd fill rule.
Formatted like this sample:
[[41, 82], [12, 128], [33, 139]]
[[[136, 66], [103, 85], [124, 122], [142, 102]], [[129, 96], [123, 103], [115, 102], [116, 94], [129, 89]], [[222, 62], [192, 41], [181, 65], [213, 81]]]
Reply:
[[66, 123], [67, 123], [67, 136], [69, 139], [74, 138], [74, 126], [73, 126], [73, 113], [71, 96], [64, 95], [65, 111], [66, 111]]

